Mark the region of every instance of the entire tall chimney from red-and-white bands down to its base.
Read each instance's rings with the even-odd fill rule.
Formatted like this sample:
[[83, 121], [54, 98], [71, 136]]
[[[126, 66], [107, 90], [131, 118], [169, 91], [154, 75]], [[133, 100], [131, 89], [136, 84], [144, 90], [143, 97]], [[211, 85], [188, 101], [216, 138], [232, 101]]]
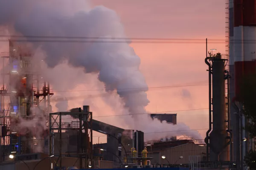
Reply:
[[[231, 130], [233, 132], [233, 161], [238, 168], [243, 164], [243, 158], [250, 148], [254, 148], [253, 140], [243, 130], [246, 119], [241, 114], [242, 105], [239, 99], [239, 84], [242, 76], [256, 72], [256, 0], [229, 0], [230, 43], [229, 71]], [[247, 141], [242, 142], [246, 137]], [[245, 167], [243, 167], [245, 169]]]

